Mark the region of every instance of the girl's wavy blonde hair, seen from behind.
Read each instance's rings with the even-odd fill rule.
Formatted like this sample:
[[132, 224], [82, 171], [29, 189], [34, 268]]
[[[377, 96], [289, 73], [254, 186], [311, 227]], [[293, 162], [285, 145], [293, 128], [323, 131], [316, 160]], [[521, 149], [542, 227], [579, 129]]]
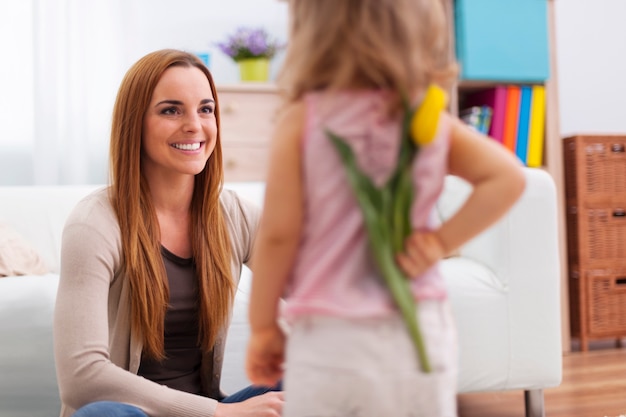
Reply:
[[319, 89], [382, 88], [421, 96], [457, 67], [441, 0], [289, 0], [278, 84], [288, 100]]

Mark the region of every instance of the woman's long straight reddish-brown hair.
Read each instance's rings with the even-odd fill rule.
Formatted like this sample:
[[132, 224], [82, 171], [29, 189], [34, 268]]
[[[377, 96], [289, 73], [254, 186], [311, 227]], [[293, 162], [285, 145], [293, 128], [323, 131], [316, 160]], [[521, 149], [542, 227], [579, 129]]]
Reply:
[[226, 324], [234, 294], [231, 246], [219, 204], [223, 184], [219, 100], [213, 77], [195, 55], [177, 50], [150, 53], [126, 73], [113, 109], [110, 143], [111, 201], [120, 226], [122, 274], [130, 281], [133, 332], [144, 353], [164, 358], [165, 312], [169, 286], [161, 257], [159, 224], [141, 169], [143, 120], [152, 93], [170, 67], [202, 71], [215, 99], [217, 142], [204, 170], [196, 175], [191, 201], [191, 240], [199, 289], [199, 343], [210, 351]]

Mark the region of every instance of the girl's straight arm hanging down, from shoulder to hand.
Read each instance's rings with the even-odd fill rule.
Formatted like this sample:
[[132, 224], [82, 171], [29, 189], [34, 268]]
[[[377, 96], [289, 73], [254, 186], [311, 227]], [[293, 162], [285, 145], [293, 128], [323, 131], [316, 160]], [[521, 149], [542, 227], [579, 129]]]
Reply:
[[304, 103], [279, 115], [270, 151], [265, 201], [252, 255], [247, 371], [253, 383], [273, 385], [282, 376], [284, 336], [278, 327], [283, 295], [300, 241]]

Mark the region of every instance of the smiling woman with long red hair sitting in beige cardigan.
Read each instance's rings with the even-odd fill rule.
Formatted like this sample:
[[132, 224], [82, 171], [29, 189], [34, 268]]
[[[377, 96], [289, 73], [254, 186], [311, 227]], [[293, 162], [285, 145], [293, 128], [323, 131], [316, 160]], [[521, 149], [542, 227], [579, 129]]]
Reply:
[[54, 317], [62, 417], [280, 415], [282, 393], [220, 390], [260, 213], [222, 190], [219, 127], [213, 77], [195, 55], [156, 51], [124, 77], [112, 184], [77, 205], [63, 234]]

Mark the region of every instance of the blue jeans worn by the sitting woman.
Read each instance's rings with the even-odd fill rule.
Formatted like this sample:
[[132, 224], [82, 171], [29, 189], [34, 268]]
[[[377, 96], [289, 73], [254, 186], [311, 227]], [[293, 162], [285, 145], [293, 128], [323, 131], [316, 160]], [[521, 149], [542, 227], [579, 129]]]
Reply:
[[[249, 386], [241, 391], [227, 396], [220, 402], [223, 403], [239, 403], [248, 398], [265, 394], [269, 391], [281, 391], [282, 384], [278, 383], [275, 387], [257, 387]], [[118, 403], [115, 401], [96, 401], [87, 404], [76, 410], [72, 417], [149, 417], [140, 408], [133, 405]]]

